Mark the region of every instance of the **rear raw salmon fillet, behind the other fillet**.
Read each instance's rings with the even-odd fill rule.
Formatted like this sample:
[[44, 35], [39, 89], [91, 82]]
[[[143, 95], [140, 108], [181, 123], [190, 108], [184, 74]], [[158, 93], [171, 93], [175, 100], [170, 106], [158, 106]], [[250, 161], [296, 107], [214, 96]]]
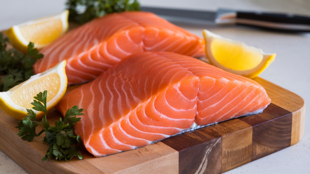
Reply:
[[34, 73], [67, 60], [69, 84], [89, 82], [124, 57], [144, 51], [204, 55], [203, 39], [149, 12], [123, 12], [97, 18], [40, 50]]

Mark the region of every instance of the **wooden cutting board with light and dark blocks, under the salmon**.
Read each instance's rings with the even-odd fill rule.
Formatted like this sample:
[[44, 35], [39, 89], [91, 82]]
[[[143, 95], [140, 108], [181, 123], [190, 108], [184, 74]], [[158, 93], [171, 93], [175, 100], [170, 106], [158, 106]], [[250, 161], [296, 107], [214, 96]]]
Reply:
[[[101, 158], [83, 151], [82, 160], [75, 157], [70, 162], [42, 162], [48, 149], [42, 142], [44, 134], [32, 142], [23, 141], [14, 128], [18, 120], [0, 109], [0, 149], [32, 174], [226, 172], [294, 145], [304, 133], [303, 99], [262, 78], [254, 80], [271, 98], [271, 104], [261, 114], [231, 119]], [[59, 117], [60, 113], [53, 109], [48, 121], [54, 123]]]

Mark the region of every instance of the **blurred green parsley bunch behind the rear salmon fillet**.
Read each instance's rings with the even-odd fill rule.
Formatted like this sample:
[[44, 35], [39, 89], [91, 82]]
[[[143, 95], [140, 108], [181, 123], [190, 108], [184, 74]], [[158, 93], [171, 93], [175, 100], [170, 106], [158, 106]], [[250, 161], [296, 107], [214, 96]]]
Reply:
[[95, 17], [122, 11], [139, 11], [137, 0], [68, 0], [69, 21], [84, 24]]

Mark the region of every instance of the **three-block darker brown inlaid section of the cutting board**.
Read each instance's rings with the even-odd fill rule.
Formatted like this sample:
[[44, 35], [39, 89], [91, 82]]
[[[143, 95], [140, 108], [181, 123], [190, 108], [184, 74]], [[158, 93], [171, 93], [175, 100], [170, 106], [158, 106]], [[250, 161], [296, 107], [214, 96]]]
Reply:
[[261, 114], [235, 118], [161, 142], [179, 152], [179, 173], [222, 173], [291, 144], [292, 113], [270, 104]]

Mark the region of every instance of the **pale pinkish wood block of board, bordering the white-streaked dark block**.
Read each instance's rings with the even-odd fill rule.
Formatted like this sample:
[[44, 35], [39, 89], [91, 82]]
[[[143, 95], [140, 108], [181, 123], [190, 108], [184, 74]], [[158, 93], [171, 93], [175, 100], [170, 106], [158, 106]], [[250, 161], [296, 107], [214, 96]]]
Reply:
[[[85, 154], [85, 153], [84, 153]], [[178, 152], [162, 142], [139, 149], [94, 158], [87, 153], [84, 159], [103, 173], [178, 173]]]

